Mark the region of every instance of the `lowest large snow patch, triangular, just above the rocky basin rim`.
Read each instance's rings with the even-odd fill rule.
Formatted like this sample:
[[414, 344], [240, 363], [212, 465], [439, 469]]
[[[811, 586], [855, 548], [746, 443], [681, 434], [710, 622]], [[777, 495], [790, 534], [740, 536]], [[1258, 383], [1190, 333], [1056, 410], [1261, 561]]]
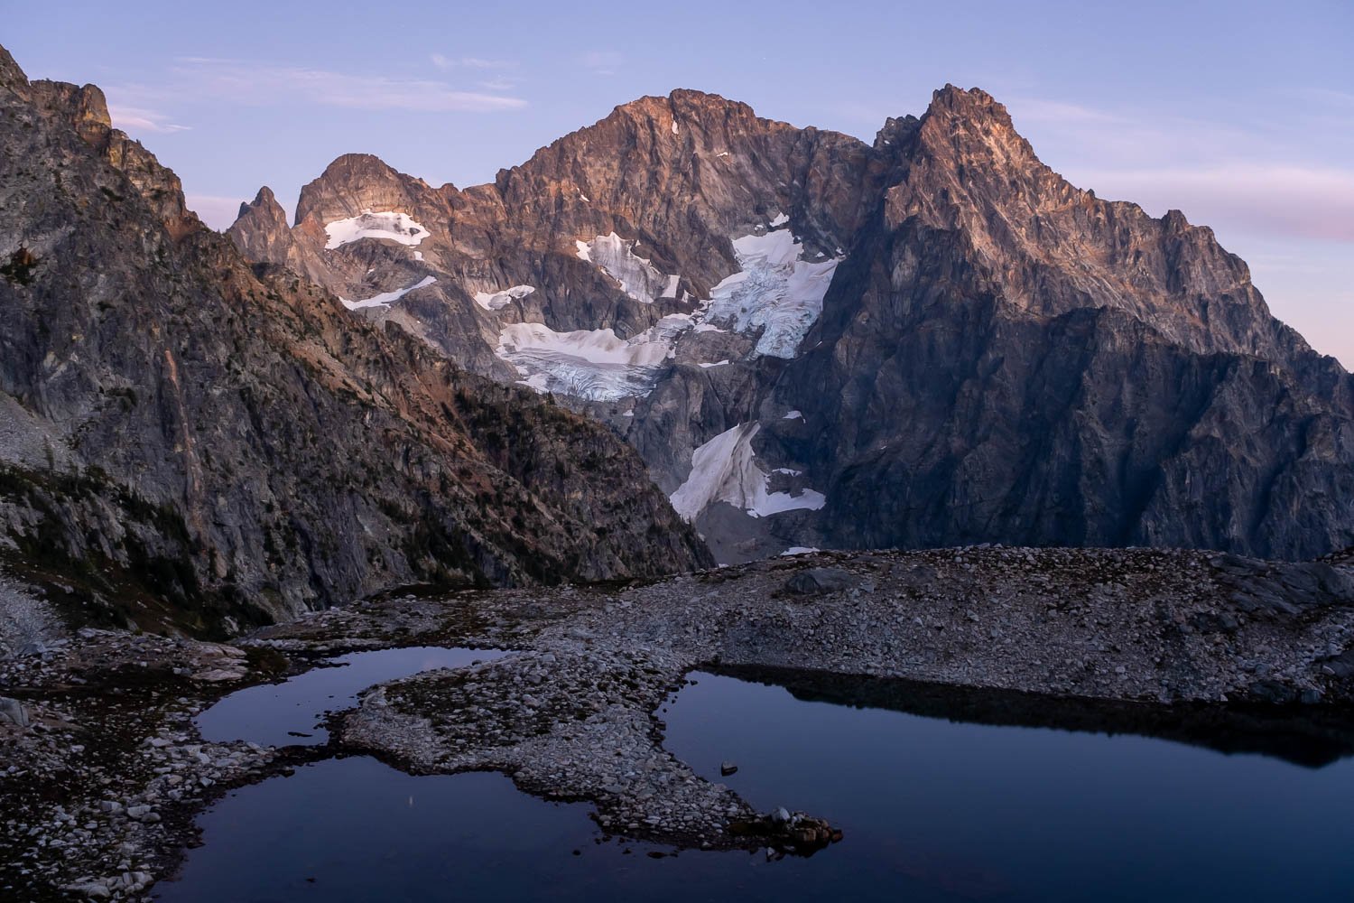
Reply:
[[692, 452], [691, 474], [670, 495], [673, 509], [688, 523], [696, 520], [714, 502], [728, 502], [753, 517], [780, 512], [818, 510], [827, 498], [812, 489], [798, 495], [770, 493], [770, 477], [756, 463], [753, 437], [760, 424], [739, 424], [727, 429]]

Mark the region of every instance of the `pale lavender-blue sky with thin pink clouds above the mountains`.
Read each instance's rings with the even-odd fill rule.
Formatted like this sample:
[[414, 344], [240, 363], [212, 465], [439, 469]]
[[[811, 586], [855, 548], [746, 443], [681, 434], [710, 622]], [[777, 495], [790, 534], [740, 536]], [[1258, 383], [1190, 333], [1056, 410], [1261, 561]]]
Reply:
[[1212, 226], [1354, 366], [1354, 4], [66, 3], [11, 16], [30, 77], [104, 88], [217, 227], [337, 154], [471, 185], [646, 93], [699, 88], [871, 139], [945, 83], [1003, 102], [1102, 198]]

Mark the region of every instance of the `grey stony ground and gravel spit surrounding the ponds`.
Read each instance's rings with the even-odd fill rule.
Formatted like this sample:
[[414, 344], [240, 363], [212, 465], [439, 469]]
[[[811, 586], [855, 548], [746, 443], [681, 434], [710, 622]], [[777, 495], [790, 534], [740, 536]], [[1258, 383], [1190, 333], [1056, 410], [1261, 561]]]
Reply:
[[[372, 600], [232, 644], [85, 630], [0, 662], [14, 700], [0, 712], [0, 891], [145, 899], [225, 789], [340, 753], [413, 773], [502, 770], [533, 795], [589, 801], [604, 834], [774, 856], [830, 843], [831, 826], [757, 812], [663, 749], [662, 705], [701, 667], [965, 688], [994, 720], [1078, 700], [1158, 723], [1204, 709], [1262, 738], [1243, 746], [1319, 713], [1312, 730], [1343, 755], [1351, 588], [1349, 558], [819, 552], [628, 588]], [[204, 743], [194, 726], [225, 693], [318, 657], [429, 644], [516, 651], [368, 689], [332, 718], [325, 747]]]

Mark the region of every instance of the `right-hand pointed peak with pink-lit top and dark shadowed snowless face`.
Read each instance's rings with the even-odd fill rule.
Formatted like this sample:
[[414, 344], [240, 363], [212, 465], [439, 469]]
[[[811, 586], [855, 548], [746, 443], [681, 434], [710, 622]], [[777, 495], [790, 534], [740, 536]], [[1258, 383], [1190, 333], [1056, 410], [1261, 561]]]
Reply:
[[773, 393], [806, 412], [787, 452], [833, 487], [825, 543], [1354, 540], [1350, 378], [1208, 229], [1072, 188], [978, 91], [890, 134], [822, 345]]

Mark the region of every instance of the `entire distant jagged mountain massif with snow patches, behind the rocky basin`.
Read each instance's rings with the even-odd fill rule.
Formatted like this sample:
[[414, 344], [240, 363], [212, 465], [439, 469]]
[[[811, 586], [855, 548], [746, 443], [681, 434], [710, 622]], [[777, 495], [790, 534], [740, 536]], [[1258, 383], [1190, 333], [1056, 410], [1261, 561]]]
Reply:
[[492, 185], [340, 157], [269, 223], [294, 246], [255, 257], [417, 286], [355, 313], [621, 432], [723, 560], [1354, 544], [1349, 374], [1210, 230], [1072, 187], [978, 89], [872, 146], [677, 91]]

